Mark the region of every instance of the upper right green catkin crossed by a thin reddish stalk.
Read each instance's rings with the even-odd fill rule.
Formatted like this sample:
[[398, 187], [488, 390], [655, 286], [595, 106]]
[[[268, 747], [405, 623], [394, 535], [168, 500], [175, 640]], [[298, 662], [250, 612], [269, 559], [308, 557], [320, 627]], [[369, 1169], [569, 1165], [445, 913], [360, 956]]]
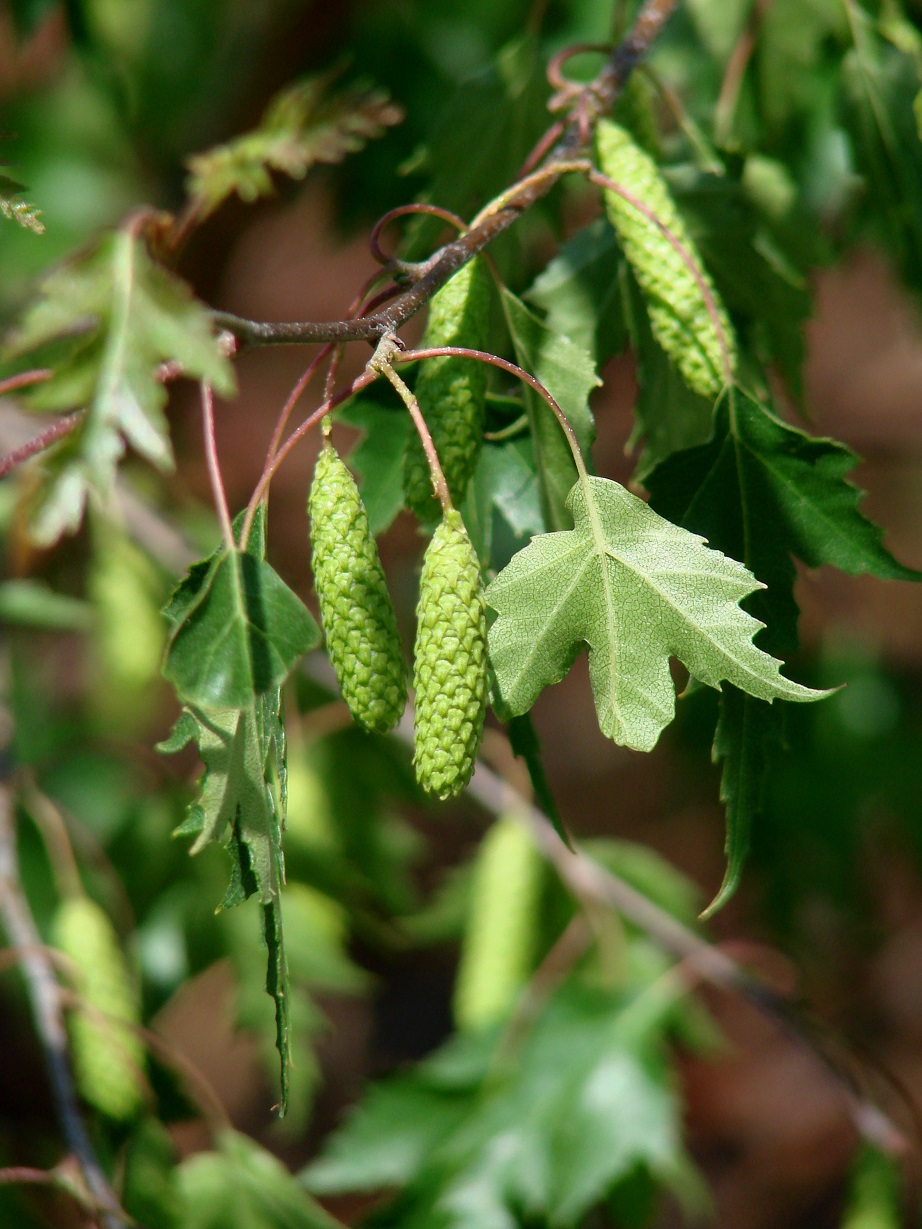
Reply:
[[688, 387], [702, 397], [715, 399], [727, 382], [724, 347], [731, 374], [736, 365], [736, 342], [727, 311], [660, 170], [631, 134], [611, 120], [602, 120], [596, 127], [596, 151], [602, 173], [658, 219], [707, 286], [719, 328], [708, 311], [702, 286], [660, 227], [616, 192], [604, 193], [609, 220], [647, 300], [654, 337]]

